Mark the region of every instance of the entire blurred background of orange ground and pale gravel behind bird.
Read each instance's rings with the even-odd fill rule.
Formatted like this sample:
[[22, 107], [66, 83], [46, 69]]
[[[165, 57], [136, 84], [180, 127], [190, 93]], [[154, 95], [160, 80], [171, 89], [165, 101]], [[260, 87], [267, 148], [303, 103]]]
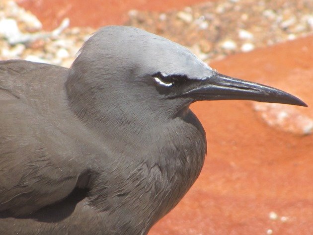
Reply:
[[204, 168], [149, 235], [312, 235], [313, 1], [0, 0], [0, 60], [70, 67], [112, 24], [169, 38], [222, 74], [309, 105], [193, 104], [207, 133]]

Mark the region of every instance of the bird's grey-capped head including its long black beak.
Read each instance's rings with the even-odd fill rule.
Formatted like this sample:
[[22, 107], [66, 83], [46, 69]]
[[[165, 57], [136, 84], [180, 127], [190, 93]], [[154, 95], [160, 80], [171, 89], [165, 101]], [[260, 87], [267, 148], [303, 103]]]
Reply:
[[104, 27], [89, 38], [73, 63], [68, 83], [74, 87], [68, 89], [75, 89], [88, 105], [94, 102], [99, 109], [111, 105], [122, 112], [128, 108], [132, 115], [173, 117], [197, 100], [306, 106], [276, 88], [219, 74], [185, 47], [126, 26]]

